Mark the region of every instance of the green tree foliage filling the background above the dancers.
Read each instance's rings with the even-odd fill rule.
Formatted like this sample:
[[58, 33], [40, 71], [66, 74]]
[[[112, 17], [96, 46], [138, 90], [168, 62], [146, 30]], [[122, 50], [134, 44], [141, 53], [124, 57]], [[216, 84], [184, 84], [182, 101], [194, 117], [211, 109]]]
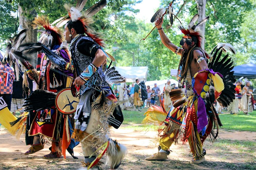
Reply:
[[[88, 9], [98, 0], [88, 1], [84, 9]], [[145, 41], [144, 38], [154, 27], [154, 23], [144, 23], [135, 18], [139, 10], [134, 9], [141, 0], [110, 0], [103, 10], [93, 16], [92, 26], [102, 33], [105, 39], [105, 50], [116, 58], [116, 66], [132, 66], [133, 54], [135, 66], [148, 67], [147, 80], [161, 80], [170, 78], [170, 69], [177, 69], [180, 57], [167, 49], [161, 42], [155, 29]], [[161, 0], [159, 7], [166, 6], [170, 1]], [[63, 7], [65, 3], [75, 5], [74, 0], [13, 0], [0, 2], [0, 39], [17, 33], [18, 4], [25, 11], [25, 17], [33, 19], [36, 15], [47, 15], [50, 22], [67, 14]], [[184, 1], [173, 4], [176, 14]], [[205, 49], [210, 52], [218, 42], [230, 43], [236, 48], [237, 54], [231, 55], [234, 64], [256, 62], [255, 48], [255, 2], [253, 0], [209, 0], [206, 4], [206, 15], [210, 16], [206, 23]], [[196, 1], [186, 1], [184, 8], [177, 15], [184, 26], [197, 13]], [[153, 15], [153, 14], [149, 14]], [[179, 46], [181, 32], [179, 22], [174, 19], [170, 27], [168, 16], [164, 17], [163, 28], [170, 41]], [[1, 43], [1, 42], [0, 42]], [[119, 47], [125, 50], [113, 50]], [[115, 63], [114, 63], [115, 64]]]

